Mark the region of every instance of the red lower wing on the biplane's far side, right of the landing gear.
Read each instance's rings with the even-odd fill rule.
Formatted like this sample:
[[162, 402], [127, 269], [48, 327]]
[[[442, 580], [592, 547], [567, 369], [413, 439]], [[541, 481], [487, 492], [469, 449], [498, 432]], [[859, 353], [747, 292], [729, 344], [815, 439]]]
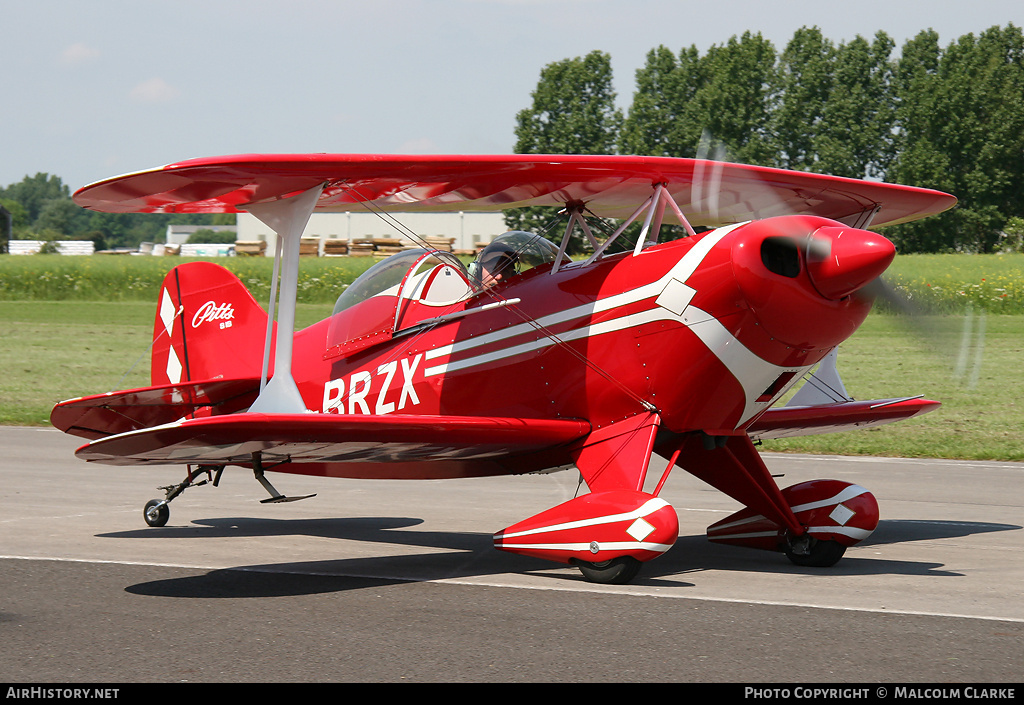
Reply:
[[839, 402], [807, 407], [769, 409], [746, 429], [755, 441], [792, 436], [837, 433], [900, 421], [938, 409], [940, 404], [918, 397]]

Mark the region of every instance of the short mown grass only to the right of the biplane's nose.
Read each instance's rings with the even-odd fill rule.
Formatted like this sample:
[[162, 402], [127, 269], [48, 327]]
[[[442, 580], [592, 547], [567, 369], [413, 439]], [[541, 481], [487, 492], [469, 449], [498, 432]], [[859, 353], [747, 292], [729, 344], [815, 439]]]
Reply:
[[1024, 316], [986, 316], [983, 345], [980, 318], [962, 344], [965, 321], [930, 318], [922, 336], [906, 317], [872, 314], [840, 345], [839, 371], [850, 396], [925, 395], [942, 402], [937, 411], [878, 428], [766, 441], [762, 449], [1024, 460]]

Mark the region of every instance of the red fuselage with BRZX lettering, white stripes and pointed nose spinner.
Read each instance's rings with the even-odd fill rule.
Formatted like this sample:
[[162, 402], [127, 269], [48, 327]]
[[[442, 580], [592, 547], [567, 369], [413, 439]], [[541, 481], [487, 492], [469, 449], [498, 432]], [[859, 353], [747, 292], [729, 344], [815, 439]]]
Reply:
[[[815, 232], [850, 241], [844, 261], [815, 261]], [[852, 294], [893, 254], [871, 233], [784, 216], [554, 275], [541, 265], [456, 303], [392, 291], [297, 333], [294, 375], [307, 408], [327, 413], [578, 418], [597, 429], [653, 409], [669, 431], [736, 433], [854, 332], [870, 302]], [[366, 334], [339, 352], [351, 322]]]

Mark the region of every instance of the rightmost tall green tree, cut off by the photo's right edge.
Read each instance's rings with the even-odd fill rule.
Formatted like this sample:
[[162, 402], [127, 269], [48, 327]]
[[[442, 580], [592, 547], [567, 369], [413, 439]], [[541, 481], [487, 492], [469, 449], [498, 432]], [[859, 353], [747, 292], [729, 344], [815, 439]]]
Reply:
[[1024, 36], [1013, 25], [968, 34], [944, 51], [934, 33], [908, 43], [897, 70], [898, 156], [890, 178], [959, 200], [939, 218], [894, 229], [904, 251], [991, 252], [1024, 214]]

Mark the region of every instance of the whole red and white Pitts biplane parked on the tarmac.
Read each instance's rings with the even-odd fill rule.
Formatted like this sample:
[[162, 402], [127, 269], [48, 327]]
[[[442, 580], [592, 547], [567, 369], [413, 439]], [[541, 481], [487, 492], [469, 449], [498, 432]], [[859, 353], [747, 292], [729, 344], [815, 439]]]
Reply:
[[[53, 409], [54, 426], [90, 440], [79, 458], [185, 466], [146, 505], [153, 526], [228, 465], [252, 470], [267, 502], [302, 499], [278, 492], [269, 470], [440, 479], [578, 468], [589, 493], [499, 531], [494, 544], [627, 582], [676, 541], [675, 509], [658, 494], [679, 466], [745, 507], [709, 527], [711, 540], [830, 566], [874, 529], [874, 498], [839, 481], [780, 490], [755, 444], [938, 406], [854, 401], [834, 354], [895, 254], [865, 229], [955, 203], [934, 191], [671, 158], [249, 155], [113, 178], [75, 200], [108, 212], [248, 211], [279, 234], [270, 315], [226, 269], [176, 266], [158, 302], [153, 386]], [[560, 208], [560, 246], [508, 233], [468, 267], [409, 249], [346, 288], [329, 319], [294, 330], [299, 239], [314, 209], [520, 206]], [[591, 216], [622, 226], [597, 238]], [[634, 221], [639, 237], [624, 247]], [[686, 236], [658, 243], [664, 223]], [[567, 255], [573, 236], [589, 254]], [[652, 454], [671, 460], [648, 493]]]

